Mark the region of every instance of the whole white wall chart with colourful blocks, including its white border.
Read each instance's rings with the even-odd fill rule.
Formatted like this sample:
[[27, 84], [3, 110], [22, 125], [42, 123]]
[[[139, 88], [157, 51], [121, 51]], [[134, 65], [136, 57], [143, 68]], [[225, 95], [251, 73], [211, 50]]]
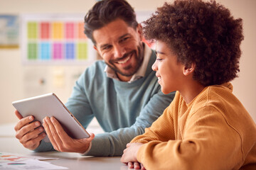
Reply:
[[21, 15], [22, 59], [26, 64], [85, 64], [96, 58], [84, 34], [84, 14]]

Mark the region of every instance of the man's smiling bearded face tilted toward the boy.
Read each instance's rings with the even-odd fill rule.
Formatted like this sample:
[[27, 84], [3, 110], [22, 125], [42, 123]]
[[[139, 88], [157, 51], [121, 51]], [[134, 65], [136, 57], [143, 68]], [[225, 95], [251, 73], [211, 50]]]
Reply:
[[95, 49], [122, 81], [129, 81], [143, 61], [142, 35], [122, 19], [93, 31]]

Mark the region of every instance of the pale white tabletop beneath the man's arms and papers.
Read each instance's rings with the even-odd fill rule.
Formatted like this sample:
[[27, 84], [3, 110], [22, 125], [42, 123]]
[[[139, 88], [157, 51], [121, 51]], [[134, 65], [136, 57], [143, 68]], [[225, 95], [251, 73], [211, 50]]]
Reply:
[[118, 169], [127, 170], [128, 167], [120, 162], [120, 157], [84, 157], [76, 153], [67, 152], [33, 152], [21, 145], [13, 136], [0, 135], [0, 152], [9, 152], [13, 154], [31, 155], [39, 157], [58, 158], [48, 160], [54, 165], [65, 166], [68, 169]]

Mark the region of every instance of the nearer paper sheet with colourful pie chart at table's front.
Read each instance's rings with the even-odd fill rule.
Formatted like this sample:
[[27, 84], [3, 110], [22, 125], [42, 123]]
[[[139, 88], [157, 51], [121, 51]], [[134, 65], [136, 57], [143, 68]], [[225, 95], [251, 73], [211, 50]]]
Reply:
[[37, 159], [27, 159], [25, 161], [20, 162], [4, 162], [0, 164], [0, 170], [46, 170], [46, 169], [68, 169], [63, 166], [56, 166], [50, 164], [50, 162], [42, 162]]

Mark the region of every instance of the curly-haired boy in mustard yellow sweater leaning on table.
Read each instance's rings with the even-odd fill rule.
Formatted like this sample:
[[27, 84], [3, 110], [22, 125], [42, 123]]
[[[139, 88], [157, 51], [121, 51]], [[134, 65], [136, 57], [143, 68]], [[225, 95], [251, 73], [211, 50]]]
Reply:
[[127, 144], [121, 162], [135, 169], [256, 169], [256, 126], [230, 84], [240, 71], [242, 19], [215, 1], [177, 0], [143, 29], [156, 40], [152, 69], [161, 91], [177, 92]]

